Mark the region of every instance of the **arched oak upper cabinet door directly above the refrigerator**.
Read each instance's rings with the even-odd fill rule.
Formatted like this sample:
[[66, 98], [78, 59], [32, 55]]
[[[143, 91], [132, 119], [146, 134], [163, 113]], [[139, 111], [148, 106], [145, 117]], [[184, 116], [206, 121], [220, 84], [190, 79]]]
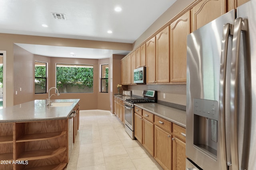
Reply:
[[226, 0], [202, 0], [192, 8], [192, 31], [226, 12]]

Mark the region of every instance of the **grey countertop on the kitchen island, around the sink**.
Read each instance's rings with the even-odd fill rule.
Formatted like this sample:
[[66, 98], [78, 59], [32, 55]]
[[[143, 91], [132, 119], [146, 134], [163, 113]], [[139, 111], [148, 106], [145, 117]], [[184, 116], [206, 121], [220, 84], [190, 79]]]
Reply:
[[48, 107], [46, 100], [34, 100], [0, 109], [0, 123], [67, 119], [80, 99], [57, 99], [54, 102], [74, 102], [70, 106]]

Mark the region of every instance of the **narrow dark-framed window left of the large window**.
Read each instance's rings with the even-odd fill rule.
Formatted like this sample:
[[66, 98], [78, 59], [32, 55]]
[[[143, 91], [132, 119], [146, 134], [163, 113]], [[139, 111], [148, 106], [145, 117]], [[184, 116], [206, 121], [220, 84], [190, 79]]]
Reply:
[[35, 62], [35, 94], [46, 93], [46, 63]]

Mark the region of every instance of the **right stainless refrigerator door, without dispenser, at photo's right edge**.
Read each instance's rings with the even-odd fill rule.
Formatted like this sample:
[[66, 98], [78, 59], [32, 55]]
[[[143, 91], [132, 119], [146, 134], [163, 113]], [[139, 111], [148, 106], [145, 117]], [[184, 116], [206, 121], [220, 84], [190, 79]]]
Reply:
[[255, 9], [256, 0], [239, 6], [234, 25], [230, 87], [232, 170], [256, 169]]

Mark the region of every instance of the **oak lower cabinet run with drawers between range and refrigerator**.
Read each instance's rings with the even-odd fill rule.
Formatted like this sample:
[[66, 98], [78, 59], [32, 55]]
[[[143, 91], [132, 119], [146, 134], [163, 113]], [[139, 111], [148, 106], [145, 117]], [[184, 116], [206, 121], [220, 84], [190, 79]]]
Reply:
[[186, 169], [186, 129], [134, 107], [134, 136], [165, 170]]

